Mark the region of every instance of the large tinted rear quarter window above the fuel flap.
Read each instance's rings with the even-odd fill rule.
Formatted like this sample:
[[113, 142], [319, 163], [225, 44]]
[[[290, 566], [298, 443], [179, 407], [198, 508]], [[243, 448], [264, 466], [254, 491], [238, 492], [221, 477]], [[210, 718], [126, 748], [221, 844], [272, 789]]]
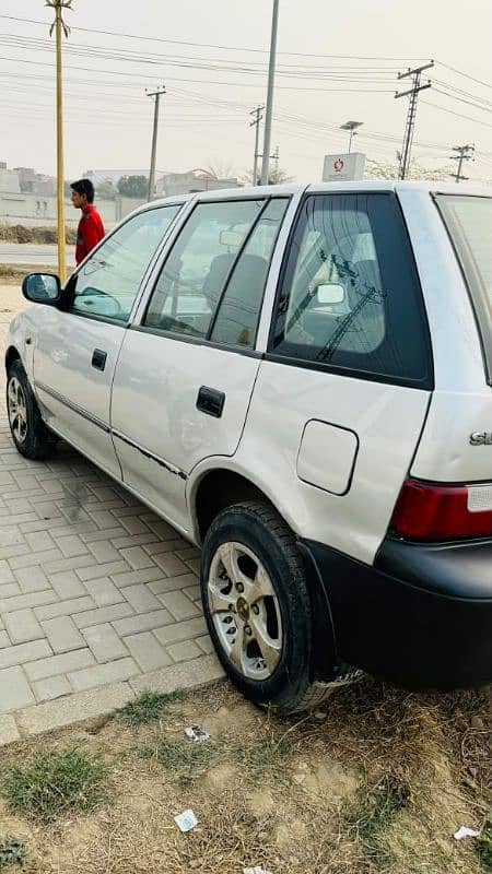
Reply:
[[395, 196], [306, 198], [291, 240], [271, 352], [376, 378], [426, 381], [422, 307]]

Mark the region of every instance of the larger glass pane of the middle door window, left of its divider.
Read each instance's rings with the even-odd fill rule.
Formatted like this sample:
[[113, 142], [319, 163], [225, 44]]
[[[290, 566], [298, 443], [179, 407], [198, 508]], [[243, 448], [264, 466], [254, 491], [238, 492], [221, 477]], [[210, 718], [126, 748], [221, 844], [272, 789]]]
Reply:
[[144, 326], [207, 336], [230, 272], [263, 203], [197, 204], [163, 267]]

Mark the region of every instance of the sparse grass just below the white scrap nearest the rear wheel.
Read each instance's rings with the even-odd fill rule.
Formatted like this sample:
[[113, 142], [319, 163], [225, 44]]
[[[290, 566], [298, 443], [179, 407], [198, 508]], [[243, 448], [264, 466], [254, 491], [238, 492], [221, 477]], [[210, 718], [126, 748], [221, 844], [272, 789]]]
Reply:
[[208, 741], [192, 743], [178, 737], [160, 737], [154, 747], [145, 747], [143, 758], [155, 758], [166, 770], [172, 771], [181, 787], [191, 786], [215, 761], [216, 748]]

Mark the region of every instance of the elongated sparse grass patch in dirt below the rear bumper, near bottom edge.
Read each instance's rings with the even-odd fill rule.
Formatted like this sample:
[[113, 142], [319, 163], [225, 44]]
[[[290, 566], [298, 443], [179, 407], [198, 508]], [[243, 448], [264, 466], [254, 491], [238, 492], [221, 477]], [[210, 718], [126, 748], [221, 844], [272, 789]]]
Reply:
[[350, 816], [349, 829], [355, 831], [367, 862], [383, 866], [395, 861], [384, 837], [409, 800], [408, 786], [388, 775]]

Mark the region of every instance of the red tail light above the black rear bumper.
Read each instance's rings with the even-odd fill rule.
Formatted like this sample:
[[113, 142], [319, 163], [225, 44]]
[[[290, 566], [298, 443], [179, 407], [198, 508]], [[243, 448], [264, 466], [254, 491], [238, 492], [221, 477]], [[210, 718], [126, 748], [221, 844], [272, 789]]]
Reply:
[[492, 484], [437, 485], [407, 480], [391, 525], [407, 540], [492, 536]]

